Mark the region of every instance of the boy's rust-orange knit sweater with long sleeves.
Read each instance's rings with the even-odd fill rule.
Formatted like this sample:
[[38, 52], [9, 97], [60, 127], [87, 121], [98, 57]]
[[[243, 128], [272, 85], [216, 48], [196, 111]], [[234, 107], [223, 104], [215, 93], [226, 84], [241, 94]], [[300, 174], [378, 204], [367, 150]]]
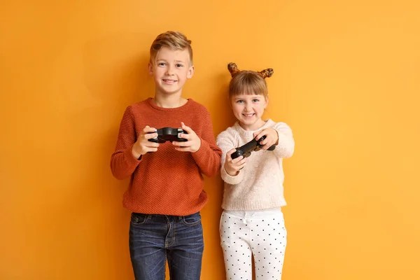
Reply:
[[[146, 127], [181, 127], [181, 122], [201, 139], [195, 153], [176, 151], [168, 141], [155, 153], [137, 160], [132, 146]], [[207, 109], [188, 99], [178, 108], [156, 106], [151, 98], [128, 106], [120, 124], [116, 150], [111, 156], [111, 170], [117, 179], [131, 176], [123, 197], [123, 206], [133, 212], [186, 216], [200, 211], [208, 197], [203, 190], [203, 176], [220, 170], [221, 149], [216, 146], [213, 125]]]

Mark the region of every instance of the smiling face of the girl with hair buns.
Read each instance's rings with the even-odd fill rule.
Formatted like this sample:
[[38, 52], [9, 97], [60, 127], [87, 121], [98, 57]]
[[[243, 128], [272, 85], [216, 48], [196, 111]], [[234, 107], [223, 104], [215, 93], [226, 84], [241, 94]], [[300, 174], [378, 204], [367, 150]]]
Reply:
[[231, 98], [233, 114], [244, 130], [258, 130], [265, 122], [261, 119], [268, 99], [259, 94], [238, 94]]

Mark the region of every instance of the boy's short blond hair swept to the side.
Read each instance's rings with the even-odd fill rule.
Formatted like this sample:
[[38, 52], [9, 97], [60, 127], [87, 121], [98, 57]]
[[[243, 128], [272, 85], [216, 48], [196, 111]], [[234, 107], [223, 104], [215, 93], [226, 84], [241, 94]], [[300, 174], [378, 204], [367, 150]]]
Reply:
[[166, 31], [159, 34], [151, 45], [151, 62], [155, 62], [156, 55], [162, 47], [171, 50], [185, 50], [190, 54], [190, 65], [193, 65], [193, 48], [191, 48], [191, 40], [179, 31]]

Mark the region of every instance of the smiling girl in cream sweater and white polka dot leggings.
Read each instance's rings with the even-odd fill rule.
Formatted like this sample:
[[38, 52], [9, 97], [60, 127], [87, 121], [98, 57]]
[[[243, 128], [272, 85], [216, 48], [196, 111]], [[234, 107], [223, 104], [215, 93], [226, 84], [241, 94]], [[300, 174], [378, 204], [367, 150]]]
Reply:
[[[238, 121], [216, 139], [223, 152], [220, 234], [226, 279], [252, 280], [251, 255], [256, 279], [281, 279], [287, 235], [281, 212], [286, 205], [282, 161], [293, 155], [293, 134], [285, 123], [261, 119], [268, 104], [265, 78], [273, 70], [239, 71], [234, 63], [228, 69], [229, 97]], [[236, 148], [262, 136], [261, 151], [232, 160]], [[274, 151], [267, 151], [272, 145]]]

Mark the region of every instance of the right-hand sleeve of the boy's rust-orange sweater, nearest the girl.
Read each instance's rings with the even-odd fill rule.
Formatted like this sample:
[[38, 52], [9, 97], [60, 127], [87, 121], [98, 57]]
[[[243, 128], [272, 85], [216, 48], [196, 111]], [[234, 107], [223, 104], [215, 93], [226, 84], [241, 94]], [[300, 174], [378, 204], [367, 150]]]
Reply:
[[211, 123], [210, 113], [205, 110], [203, 113], [203, 129], [199, 136], [201, 146], [197, 152], [192, 153], [195, 162], [200, 167], [200, 172], [208, 177], [215, 176], [221, 166], [222, 151], [216, 145]]

